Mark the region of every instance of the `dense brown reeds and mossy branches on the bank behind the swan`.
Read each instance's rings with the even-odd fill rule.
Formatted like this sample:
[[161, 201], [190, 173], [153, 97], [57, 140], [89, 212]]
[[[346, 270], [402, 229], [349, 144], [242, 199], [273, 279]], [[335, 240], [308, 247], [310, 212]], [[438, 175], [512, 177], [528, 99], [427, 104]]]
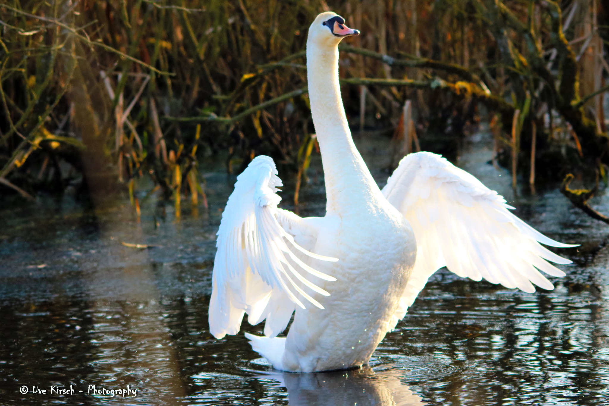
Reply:
[[[315, 153], [303, 51], [327, 9], [362, 30], [342, 46], [354, 131], [397, 140], [408, 125], [418, 136], [406, 149], [454, 158], [482, 119], [499, 163], [531, 183], [535, 163], [537, 177], [606, 177], [604, 5], [9, 1], [0, 5], [0, 190], [123, 187], [134, 201], [136, 181], [151, 177], [179, 208], [182, 195], [205, 197], [197, 164], [220, 158], [239, 172], [261, 153], [300, 179]], [[401, 117], [407, 100], [412, 125]]]

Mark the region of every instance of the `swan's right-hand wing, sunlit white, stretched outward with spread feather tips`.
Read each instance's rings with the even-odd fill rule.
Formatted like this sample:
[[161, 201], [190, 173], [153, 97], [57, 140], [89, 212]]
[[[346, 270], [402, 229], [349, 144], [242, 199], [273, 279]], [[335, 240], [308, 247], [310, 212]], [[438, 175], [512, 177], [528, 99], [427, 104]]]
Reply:
[[[557, 264], [571, 261], [544, 248], [576, 247], [549, 239], [518, 219], [505, 199], [440, 155], [418, 152], [405, 156], [382, 189], [383, 195], [412, 225], [417, 261], [393, 322], [436, 270], [446, 266], [459, 276], [535, 292], [554, 289], [538, 270], [565, 276]], [[392, 323], [395, 327], [395, 324]]]

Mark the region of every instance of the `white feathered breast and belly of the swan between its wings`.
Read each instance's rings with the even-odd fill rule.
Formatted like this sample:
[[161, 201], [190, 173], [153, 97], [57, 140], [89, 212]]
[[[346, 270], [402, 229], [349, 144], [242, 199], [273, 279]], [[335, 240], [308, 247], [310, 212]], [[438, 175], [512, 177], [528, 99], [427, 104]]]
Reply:
[[395, 209], [325, 220], [315, 252], [339, 258], [323, 270], [337, 280], [323, 284], [330, 296], [315, 296], [325, 309], [297, 309], [284, 356], [284, 366], [292, 370], [368, 362], [389, 328], [415, 261], [414, 233]]

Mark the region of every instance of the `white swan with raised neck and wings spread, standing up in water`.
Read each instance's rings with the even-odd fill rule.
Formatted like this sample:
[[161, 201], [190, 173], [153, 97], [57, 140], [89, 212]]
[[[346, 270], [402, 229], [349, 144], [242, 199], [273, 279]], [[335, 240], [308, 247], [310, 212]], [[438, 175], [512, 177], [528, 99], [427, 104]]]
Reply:
[[[535, 292], [565, 276], [545, 260], [571, 261], [511, 214], [504, 198], [429, 152], [404, 157], [379, 189], [357, 151], [339, 91], [338, 44], [359, 31], [333, 12], [311, 24], [306, 43], [311, 113], [322, 155], [326, 215], [277, 207], [275, 163], [257, 156], [237, 177], [217, 233], [209, 302], [216, 338], [245, 334], [276, 369], [315, 372], [366, 365], [438, 268]], [[532, 283], [531, 283], [532, 282]], [[294, 313], [287, 337], [276, 337]]]

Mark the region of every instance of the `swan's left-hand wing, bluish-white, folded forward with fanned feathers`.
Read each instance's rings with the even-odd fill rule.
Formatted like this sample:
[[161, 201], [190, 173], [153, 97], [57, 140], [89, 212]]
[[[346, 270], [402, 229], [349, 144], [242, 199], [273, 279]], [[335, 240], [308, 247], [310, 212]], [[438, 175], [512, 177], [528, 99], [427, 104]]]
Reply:
[[294, 241], [294, 231], [286, 231], [298, 229], [301, 219], [277, 208], [281, 197], [276, 186], [282, 184], [276, 174], [271, 158], [257, 156], [237, 177], [222, 213], [209, 303], [209, 329], [216, 338], [237, 334], [244, 313], [252, 324], [266, 318], [264, 334], [275, 337], [287, 326], [295, 305], [305, 307], [300, 298], [323, 309], [303, 287], [329, 295], [303, 271], [336, 281], [301, 260], [338, 261], [305, 250]]

